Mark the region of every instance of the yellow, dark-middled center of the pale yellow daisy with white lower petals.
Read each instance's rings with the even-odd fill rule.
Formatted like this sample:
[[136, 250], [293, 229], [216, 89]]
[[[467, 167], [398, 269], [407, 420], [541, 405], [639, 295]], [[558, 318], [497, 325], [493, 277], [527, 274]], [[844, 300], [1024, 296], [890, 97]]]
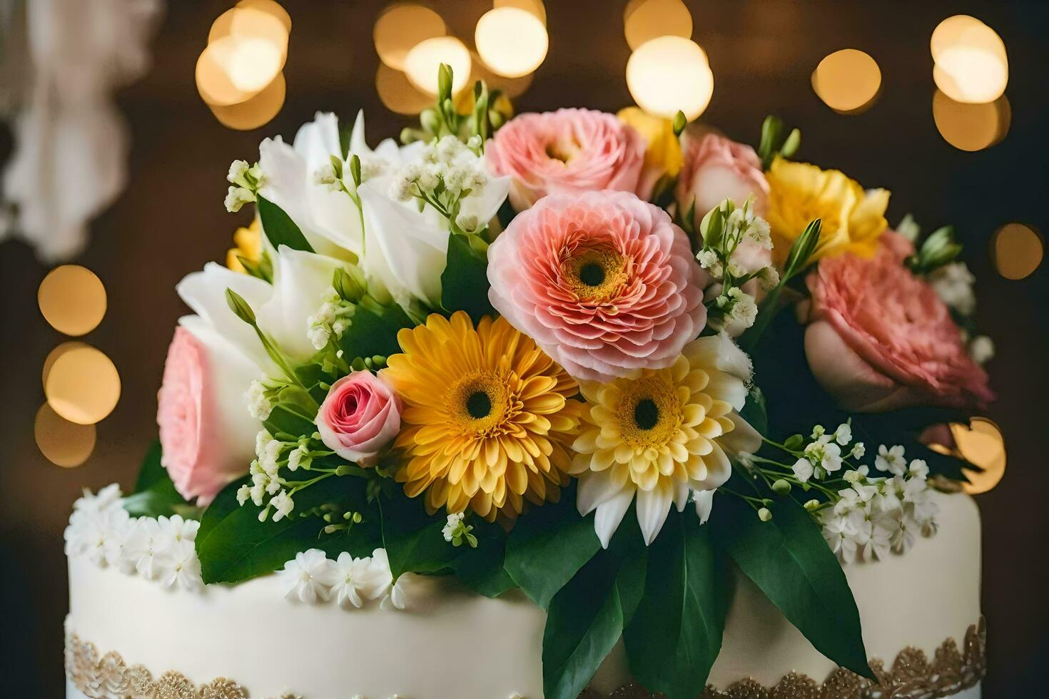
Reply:
[[678, 391], [659, 374], [636, 381], [616, 412], [623, 441], [636, 451], [663, 446], [681, 427]]

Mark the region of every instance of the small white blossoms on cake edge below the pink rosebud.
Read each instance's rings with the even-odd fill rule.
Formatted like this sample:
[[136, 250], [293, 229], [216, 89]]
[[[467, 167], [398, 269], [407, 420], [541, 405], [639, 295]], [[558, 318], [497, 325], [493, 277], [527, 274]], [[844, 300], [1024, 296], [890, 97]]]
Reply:
[[411, 574], [405, 573], [394, 583], [383, 548], [360, 559], [343, 551], [335, 561], [324, 551], [312, 548], [297, 553], [277, 575], [287, 599], [314, 604], [334, 598], [344, 609], [360, 608], [365, 602], [381, 599], [382, 609], [404, 609]]

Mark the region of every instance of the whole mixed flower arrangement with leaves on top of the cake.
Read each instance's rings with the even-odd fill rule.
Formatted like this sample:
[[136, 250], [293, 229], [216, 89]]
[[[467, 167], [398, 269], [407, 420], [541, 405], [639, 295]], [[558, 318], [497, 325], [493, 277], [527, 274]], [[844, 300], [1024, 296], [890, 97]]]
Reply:
[[973, 467], [942, 428], [992, 399], [951, 228], [891, 230], [775, 117], [755, 150], [451, 85], [403, 145], [318, 113], [231, 166], [255, 217], [178, 285], [159, 447], [70, 546], [347, 609], [406, 574], [516, 588], [558, 698], [621, 637], [640, 684], [700, 695], [735, 566], [872, 677], [841, 563], [935, 533], [929, 488]]

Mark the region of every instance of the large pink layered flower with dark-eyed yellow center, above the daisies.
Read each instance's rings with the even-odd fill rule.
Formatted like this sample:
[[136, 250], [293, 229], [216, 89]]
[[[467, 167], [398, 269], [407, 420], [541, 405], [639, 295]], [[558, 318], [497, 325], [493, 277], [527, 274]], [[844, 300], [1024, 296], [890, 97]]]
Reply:
[[488, 249], [489, 300], [577, 379], [670, 366], [706, 323], [684, 231], [627, 192], [553, 194]]

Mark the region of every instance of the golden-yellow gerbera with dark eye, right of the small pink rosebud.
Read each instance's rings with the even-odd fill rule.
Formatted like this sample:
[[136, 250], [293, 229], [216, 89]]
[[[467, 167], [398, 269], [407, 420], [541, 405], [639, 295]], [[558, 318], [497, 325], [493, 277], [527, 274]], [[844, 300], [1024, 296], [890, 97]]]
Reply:
[[398, 333], [402, 354], [383, 378], [405, 403], [394, 446], [407, 461], [405, 493], [432, 512], [468, 506], [492, 521], [523, 501], [556, 501], [568, 483], [569, 445], [582, 403], [575, 380], [504, 319], [474, 329], [458, 311]]

